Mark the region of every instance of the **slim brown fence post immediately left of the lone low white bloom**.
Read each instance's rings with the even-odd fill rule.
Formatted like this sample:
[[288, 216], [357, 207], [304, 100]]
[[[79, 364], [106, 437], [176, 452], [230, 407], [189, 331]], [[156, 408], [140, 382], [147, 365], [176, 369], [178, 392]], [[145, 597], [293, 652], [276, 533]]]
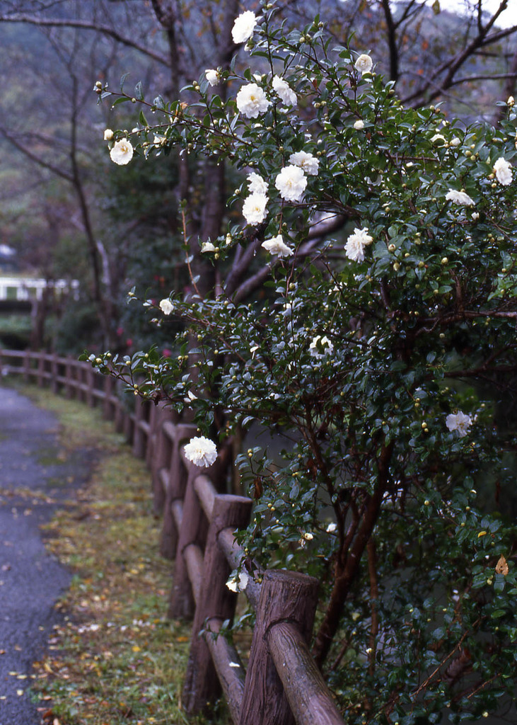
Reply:
[[172, 515], [172, 505], [182, 500], [187, 487], [188, 471], [182, 461], [182, 444], [192, 438], [197, 432], [196, 426], [190, 423], [179, 423], [175, 426], [175, 439], [172, 444], [172, 457], [168, 477], [167, 491], [165, 492], [164, 520], [161, 525], [160, 553], [167, 559], [176, 555], [178, 530]]

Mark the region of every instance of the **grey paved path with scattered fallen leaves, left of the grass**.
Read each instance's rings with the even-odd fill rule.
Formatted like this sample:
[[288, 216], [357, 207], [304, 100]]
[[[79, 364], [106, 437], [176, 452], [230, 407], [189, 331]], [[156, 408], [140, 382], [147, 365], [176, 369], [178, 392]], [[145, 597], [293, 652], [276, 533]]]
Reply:
[[23, 676], [41, 657], [70, 582], [39, 526], [88, 479], [91, 455], [64, 455], [58, 430], [54, 415], [0, 387], [0, 725], [40, 724]]

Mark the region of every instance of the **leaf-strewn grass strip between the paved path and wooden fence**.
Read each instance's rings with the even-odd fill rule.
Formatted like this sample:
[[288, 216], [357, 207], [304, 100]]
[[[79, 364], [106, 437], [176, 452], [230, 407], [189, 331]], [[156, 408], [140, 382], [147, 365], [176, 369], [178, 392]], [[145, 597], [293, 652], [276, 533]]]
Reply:
[[45, 527], [47, 547], [74, 576], [57, 605], [64, 623], [34, 666], [35, 698], [49, 703], [43, 721], [227, 723], [223, 711], [208, 720], [187, 719], [181, 709], [190, 625], [165, 617], [171, 565], [159, 555], [145, 464], [96, 410], [41, 389], [22, 392], [59, 416], [64, 450], [101, 454], [77, 503]]

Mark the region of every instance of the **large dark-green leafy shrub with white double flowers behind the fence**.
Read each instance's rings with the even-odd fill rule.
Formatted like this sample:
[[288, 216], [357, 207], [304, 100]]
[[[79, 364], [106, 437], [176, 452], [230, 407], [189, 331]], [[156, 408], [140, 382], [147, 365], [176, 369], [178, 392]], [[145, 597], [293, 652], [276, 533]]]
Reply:
[[515, 687], [516, 529], [478, 491], [516, 450], [495, 418], [517, 371], [516, 114], [465, 129], [404, 108], [369, 55], [319, 20], [286, 34], [272, 4], [234, 30], [252, 68], [207, 70], [190, 106], [154, 99], [163, 122], [141, 112], [132, 134], [146, 157], [177, 145], [242, 173], [199, 245], [221, 289], [144, 302], [184, 323], [176, 355], [91, 360], [221, 446], [254, 422], [287, 436], [274, 462], [238, 457], [241, 538], [321, 579], [314, 655], [348, 722], [482, 718]]

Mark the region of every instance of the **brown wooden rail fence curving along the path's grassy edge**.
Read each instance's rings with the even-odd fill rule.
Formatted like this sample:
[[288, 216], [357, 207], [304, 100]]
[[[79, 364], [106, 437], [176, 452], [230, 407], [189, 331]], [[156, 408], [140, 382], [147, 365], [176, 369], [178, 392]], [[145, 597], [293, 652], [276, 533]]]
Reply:
[[234, 532], [248, 525], [253, 502], [217, 492], [217, 463], [201, 472], [186, 460], [183, 445], [196, 434], [195, 426], [140, 399], [130, 412], [113, 378], [71, 358], [0, 350], [0, 373], [17, 373], [67, 398], [102, 405], [104, 417], [125, 433], [134, 455], [146, 458], [154, 508], [163, 513], [161, 553], [175, 558], [169, 614], [193, 618], [185, 711], [205, 710], [222, 692], [235, 725], [343, 725], [308, 650], [316, 579], [260, 569], [249, 576], [243, 593], [256, 612], [256, 625], [247, 669], [235, 645], [225, 634], [218, 636], [235, 615], [238, 595], [228, 589], [227, 579], [244, 553]]

